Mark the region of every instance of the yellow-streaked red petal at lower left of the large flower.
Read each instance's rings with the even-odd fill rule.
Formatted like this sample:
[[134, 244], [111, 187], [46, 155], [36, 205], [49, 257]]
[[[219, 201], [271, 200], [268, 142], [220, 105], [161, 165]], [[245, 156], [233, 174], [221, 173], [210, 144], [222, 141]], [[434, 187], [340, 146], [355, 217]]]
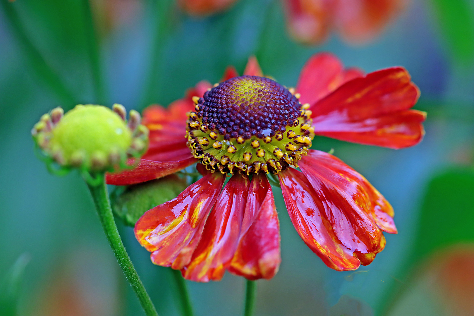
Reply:
[[174, 269], [181, 269], [189, 263], [224, 179], [220, 173], [208, 174], [175, 199], [148, 210], [140, 217], [135, 225], [135, 236], [146, 250], [152, 252], [153, 263], [166, 267], [173, 265]]

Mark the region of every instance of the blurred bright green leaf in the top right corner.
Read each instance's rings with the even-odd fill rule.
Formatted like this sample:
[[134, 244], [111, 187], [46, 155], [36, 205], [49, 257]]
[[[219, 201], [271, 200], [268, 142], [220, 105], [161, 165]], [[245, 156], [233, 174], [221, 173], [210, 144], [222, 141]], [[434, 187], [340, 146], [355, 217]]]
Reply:
[[432, 0], [439, 28], [455, 60], [474, 60], [474, 12], [466, 0]]

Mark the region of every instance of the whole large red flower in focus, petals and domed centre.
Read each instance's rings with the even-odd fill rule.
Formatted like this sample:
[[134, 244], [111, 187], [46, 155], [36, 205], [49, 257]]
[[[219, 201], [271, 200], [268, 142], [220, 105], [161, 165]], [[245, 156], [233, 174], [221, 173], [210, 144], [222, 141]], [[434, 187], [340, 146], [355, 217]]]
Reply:
[[[150, 149], [134, 170], [109, 174], [109, 184], [176, 172], [197, 162], [193, 155], [206, 168], [198, 164], [201, 180], [138, 220], [137, 240], [155, 264], [180, 269], [188, 280], [220, 280], [226, 270], [250, 280], [272, 278], [281, 258], [273, 192], [264, 174], [271, 172], [278, 175], [298, 234], [328, 267], [354, 270], [371, 263], [385, 246], [382, 232], [397, 233], [391, 205], [341, 160], [308, 148], [313, 132], [389, 148], [418, 144], [426, 115], [410, 109], [419, 90], [408, 72], [392, 67], [364, 75], [323, 53], [306, 63], [296, 90], [260, 77], [255, 58], [245, 75], [235, 77], [229, 67], [227, 81], [212, 90], [201, 82], [169, 109], [144, 111]], [[193, 103], [192, 95], [202, 98]], [[231, 128], [237, 124], [245, 128]], [[302, 172], [291, 167], [296, 162]], [[233, 176], [222, 190], [227, 173]]]

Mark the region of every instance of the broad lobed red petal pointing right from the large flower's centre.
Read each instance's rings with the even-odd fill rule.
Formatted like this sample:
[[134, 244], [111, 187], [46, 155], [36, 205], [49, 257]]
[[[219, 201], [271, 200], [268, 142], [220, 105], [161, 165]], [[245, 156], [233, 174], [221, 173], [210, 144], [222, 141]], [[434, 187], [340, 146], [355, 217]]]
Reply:
[[404, 68], [371, 72], [311, 106], [315, 134], [394, 149], [418, 144], [426, 115], [409, 110], [418, 97]]

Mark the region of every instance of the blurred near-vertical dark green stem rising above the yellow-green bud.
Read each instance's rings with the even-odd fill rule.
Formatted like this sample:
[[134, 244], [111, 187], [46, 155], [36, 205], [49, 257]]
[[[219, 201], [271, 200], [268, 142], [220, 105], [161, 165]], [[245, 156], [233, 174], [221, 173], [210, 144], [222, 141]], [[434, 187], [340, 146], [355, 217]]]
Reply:
[[89, 0], [81, 0], [82, 12], [84, 15], [84, 31], [87, 43], [87, 53], [89, 55], [89, 63], [91, 63], [91, 73], [93, 88], [95, 93], [96, 102], [104, 104], [105, 92], [104, 83], [102, 80], [102, 71], [100, 69], [100, 50], [99, 50], [99, 37], [92, 16], [91, 3]]

